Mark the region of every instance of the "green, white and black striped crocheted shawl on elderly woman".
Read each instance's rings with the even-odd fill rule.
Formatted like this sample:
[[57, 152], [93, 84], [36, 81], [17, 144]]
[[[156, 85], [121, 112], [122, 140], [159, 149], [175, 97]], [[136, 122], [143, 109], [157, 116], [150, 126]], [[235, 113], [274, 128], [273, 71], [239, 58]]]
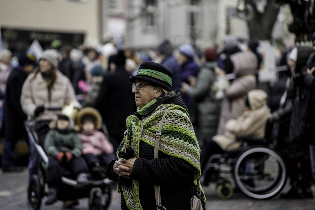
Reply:
[[[135, 151], [135, 157], [139, 158], [139, 142], [144, 141], [154, 147], [155, 134], [158, 130], [163, 114], [167, 108], [161, 131], [159, 151], [176, 158], [186, 160], [198, 170], [195, 176], [195, 184], [201, 174], [200, 170], [200, 149], [196, 139], [189, 114], [186, 109], [175, 104], [162, 104], [143, 120], [135, 115], [131, 115], [126, 120], [127, 130], [120, 144], [119, 151], [126, 152], [126, 148], [131, 147]], [[139, 198], [139, 181], [133, 179], [131, 187], [118, 186], [117, 192], [123, 193], [129, 209], [141, 210]], [[204, 195], [204, 194], [203, 194]]]

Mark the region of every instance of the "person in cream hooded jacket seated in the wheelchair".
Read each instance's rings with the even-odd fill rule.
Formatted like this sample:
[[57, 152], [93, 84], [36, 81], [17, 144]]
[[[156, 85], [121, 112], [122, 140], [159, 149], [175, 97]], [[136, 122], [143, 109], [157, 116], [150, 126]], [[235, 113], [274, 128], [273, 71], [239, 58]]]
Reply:
[[[257, 138], [265, 136], [266, 122], [270, 115], [270, 109], [266, 106], [267, 93], [264, 90], [251, 90], [246, 95], [244, 104], [247, 110], [237, 119], [226, 122], [224, 135], [216, 135], [207, 142], [202, 152], [201, 170], [205, 168], [211, 155], [240, 147], [242, 142], [236, 141], [236, 136]], [[207, 183], [206, 179], [204, 181]]]

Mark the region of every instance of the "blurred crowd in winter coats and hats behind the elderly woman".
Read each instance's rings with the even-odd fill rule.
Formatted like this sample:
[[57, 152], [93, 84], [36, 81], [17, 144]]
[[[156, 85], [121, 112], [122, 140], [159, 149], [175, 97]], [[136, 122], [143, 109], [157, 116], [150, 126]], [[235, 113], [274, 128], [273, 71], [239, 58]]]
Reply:
[[[315, 34], [312, 42], [315, 46]], [[161, 40], [156, 49], [141, 51], [122, 49], [109, 42], [98, 49], [84, 45], [78, 49], [71, 46], [46, 49], [38, 58], [25, 53], [18, 63], [12, 62], [9, 50], [1, 50], [0, 122], [5, 138], [2, 170], [21, 170], [14, 166], [14, 146], [19, 139], [28, 139], [24, 121], [28, 119], [40, 127], [38, 131], [43, 130], [48, 123], [38, 122], [62, 120], [50, 116], [47, 108], [62, 107], [65, 103], [78, 110], [95, 108], [113, 146], [113, 150], [99, 154], [117, 151], [126, 118], [137, 110], [129, 77], [135, 75], [142, 62], [154, 61], [173, 72], [172, 90], [181, 93], [189, 109], [202, 158], [213, 153], [211, 148], [231, 149], [230, 139], [237, 135], [268, 134], [277, 142], [276, 148], [286, 160], [291, 180], [291, 190], [282, 196], [313, 197], [310, 151], [314, 147], [310, 145], [315, 143], [315, 47], [284, 50], [277, 65], [286, 67], [277, 72], [276, 83], [267, 90], [251, 92], [259, 87], [263, 55], [258, 49], [258, 41], [241, 47], [234, 36], [227, 35], [220, 46], [203, 50], [190, 44], [175, 48], [167, 39]], [[248, 113], [262, 109], [263, 117], [257, 117], [258, 112]], [[245, 125], [248, 119], [253, 123], [240, 128], [242, 132], [233, 130], [236, 125], [229, 128], [231, 120]], [[95, 123], [95, 119], [90, 121]], [[47, 131], [43, 139], [46, 134]], [[234, 144], [232, 148], [238, 146]], [[201, 159], [201, 165], [202, 161], [205, 160]], [[30, 158], [30, 165], [31, 162]]]

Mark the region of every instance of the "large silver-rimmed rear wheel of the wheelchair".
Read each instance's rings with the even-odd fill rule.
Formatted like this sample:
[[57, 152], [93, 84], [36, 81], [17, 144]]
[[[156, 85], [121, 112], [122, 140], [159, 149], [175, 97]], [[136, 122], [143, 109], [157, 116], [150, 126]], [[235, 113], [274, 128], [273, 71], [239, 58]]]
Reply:
[[286, 167], [276, 151], [263, 146], [249, 148], [236, 160], [234, 178], [249, 197], [271, 198], [284, 188]]

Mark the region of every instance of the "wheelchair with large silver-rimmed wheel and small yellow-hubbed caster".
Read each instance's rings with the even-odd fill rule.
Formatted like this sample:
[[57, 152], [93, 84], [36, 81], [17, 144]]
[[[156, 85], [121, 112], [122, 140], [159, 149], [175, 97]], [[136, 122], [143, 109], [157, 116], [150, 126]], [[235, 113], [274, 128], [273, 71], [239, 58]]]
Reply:
[[[283, 157], [274, 148], [276, 141], [265, 138], [236, 137], [238, 149], [211, 155], [203, 170], [201, 183], [216, 183], [221, 199], [233, 195], [233, 186], [255, 199], [268, 199], [284, 188], [287, 170]], [[233, 184], [233, 185], [232, 185]]]

